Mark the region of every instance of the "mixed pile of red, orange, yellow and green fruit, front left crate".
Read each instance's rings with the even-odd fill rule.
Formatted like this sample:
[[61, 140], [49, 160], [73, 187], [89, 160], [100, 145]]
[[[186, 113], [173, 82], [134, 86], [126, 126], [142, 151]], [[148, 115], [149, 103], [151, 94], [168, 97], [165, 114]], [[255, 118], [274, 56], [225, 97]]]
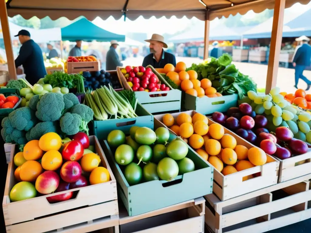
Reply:
[[[13, 161], [17, 183], [10, 191], [12, 202], [110, 180], [109, 171], [100, 166], [100, 156], [85, 133], [79, 132], [68, 140], [62, 144], [61, 137], [50, 132], [29, 141], [23, 152], [16, 153]], [[46, 199], [57, 203], [72, 198], [73, 191]]]

